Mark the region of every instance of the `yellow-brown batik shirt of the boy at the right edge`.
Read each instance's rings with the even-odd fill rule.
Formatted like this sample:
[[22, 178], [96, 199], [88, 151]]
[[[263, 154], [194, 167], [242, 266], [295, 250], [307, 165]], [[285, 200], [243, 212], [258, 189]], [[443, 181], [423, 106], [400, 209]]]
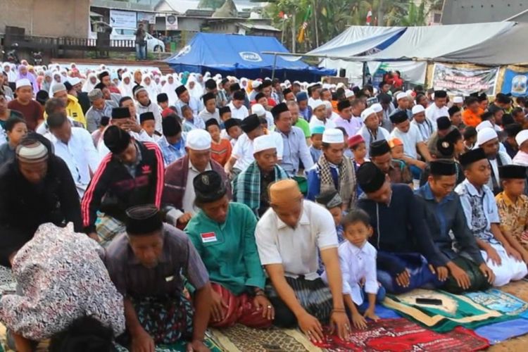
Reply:
[[495, 200], [501, 217], [501, 231], [509, 232], [525, 249], [528, 249], [528, 196], [522, 194], [513, 203], [504, 192], [501, 192], [495, 196]]

